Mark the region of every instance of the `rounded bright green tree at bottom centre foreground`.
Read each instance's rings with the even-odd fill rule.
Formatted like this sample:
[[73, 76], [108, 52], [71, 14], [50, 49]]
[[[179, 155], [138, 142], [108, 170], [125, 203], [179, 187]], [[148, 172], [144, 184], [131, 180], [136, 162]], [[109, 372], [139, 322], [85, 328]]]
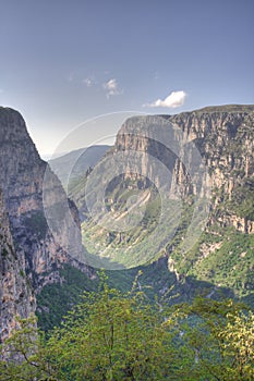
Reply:
[[123, 296], [105, 286], [86, 295], [48, 342], [57, 377], [176, 380], [176, 333], [165, 319], [143, 293]]

